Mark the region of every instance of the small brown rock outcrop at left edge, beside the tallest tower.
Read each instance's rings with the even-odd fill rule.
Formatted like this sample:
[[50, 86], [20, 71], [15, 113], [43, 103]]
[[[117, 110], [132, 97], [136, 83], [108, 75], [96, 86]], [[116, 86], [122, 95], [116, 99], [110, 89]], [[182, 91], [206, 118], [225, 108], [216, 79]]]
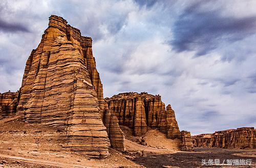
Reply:
[[15, 114], [18, 92], [0, 93], [0, 118]]

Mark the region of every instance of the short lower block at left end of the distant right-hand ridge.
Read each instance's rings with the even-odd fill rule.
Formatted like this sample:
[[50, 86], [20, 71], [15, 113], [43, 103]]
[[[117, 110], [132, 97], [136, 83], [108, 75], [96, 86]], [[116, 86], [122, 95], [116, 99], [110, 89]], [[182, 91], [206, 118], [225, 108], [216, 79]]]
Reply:
[[200, 134], [192, 136], [194, 147], [210, 147], [211, 134]]

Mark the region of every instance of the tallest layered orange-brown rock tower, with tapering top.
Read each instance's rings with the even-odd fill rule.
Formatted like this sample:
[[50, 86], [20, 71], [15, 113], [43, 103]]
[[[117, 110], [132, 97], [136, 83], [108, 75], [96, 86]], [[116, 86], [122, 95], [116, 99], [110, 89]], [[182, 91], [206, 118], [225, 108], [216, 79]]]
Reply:
[[103, 99], [92, 39], [62, 17], [49, 18], [49, 27], [27, 60], [17, 115], [66, 132], [63, 147], [84, 155], [105, 157], [110, 142], [124, 150], [123, 133]]

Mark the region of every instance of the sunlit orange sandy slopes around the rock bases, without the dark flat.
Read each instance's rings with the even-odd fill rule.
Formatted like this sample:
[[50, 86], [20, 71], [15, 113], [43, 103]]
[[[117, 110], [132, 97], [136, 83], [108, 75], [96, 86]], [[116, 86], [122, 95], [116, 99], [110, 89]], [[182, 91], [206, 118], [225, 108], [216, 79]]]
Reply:
[[[131, 132], [129, 128], [123, 128]], [[142, 167], [132, 160], [147, 154], [166, 154], [177, 152], [175, 141], [166, 143], [167, 138], [157, 130], [146, 135], [146, 142], [158, 139], [155, 146], [142, 146], [136, 138], [125, 139], [126, 152], [109, 148], [110, 156], [106, 159], [88, 158], [68, 149], [61, 148], [55, 138], [61, 132], [38, 124], [27, 124], [20, 118], [2, 119], [0, 122], [0, 167]], [[127, 136], [127, 138], [131, 138]], [[147, 140], [150, 139], [150, 140]], [[133, 141], [132, 141], [133, 140]], [[156, 146], [158, 145], [158, 146]]]

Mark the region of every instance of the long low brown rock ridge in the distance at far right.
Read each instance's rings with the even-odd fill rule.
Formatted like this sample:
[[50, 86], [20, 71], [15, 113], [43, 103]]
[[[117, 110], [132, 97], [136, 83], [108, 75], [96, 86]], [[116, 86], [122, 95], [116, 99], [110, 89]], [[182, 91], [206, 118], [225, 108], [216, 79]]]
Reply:
[[256, 148], [256, 130], [253, 127], [243, 127], [216, 131], [209, 136], [194, 136], [195, 147], [210, 148]]

